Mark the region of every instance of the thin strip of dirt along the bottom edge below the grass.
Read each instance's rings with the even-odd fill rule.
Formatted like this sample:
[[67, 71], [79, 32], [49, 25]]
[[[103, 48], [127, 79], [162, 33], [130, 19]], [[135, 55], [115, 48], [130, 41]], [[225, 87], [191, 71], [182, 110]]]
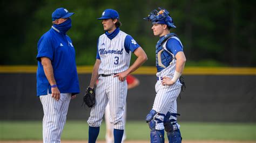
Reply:
[[[0, 141], [1, 143], [42, 143], [43, 141], [28, 141], [28, 140], [22, 140], [22, 141]], [[69, 141], [69, 140], [64, 140], [62, 141], [62, 143], [84, 143], [84, 142], [88, 142], [87, 140], [83, 140], [83, 141]], [[150, 141], [135, 141], [135, 140], [129, 140], [129, 141], [125, 141], [125, 143], [149, 143]], [[193, 141], [187, 141], [184, 140], [182, 141], [183, 143], [255, 143], [256, 141], [197, 141], [197, 140], [193, 140]], [[105, 143], [105, 141], [97, 141], [97, 143]]]

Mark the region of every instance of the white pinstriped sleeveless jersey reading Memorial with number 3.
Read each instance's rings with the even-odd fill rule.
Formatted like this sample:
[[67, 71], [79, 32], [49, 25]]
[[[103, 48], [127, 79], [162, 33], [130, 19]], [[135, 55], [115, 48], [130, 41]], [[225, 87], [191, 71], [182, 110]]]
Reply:
[[98, 74], [121, 73], [129, 68], [131, 51], [127, 53], [125, 50], [126, 36], [123, 31], [119, 31], [112, 40], [106, 34], [100, 35], [97, 50], [101, 63]]

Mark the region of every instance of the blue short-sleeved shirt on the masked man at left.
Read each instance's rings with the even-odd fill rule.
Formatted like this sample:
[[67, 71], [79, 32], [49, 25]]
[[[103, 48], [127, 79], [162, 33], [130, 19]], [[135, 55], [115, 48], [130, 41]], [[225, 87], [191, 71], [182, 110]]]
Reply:
[[42, 57], [51, 60], [53, 74], [60, 93], [79, 94], [76, 53], [68, 35], [51, 28], [37, 44], [37, 96], [51, 94], [51, 85], [44, 74]]

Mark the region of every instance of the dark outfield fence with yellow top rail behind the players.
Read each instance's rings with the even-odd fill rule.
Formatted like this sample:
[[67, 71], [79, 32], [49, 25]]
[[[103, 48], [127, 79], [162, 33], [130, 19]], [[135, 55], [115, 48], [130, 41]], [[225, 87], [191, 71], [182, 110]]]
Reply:
[[[82, 98], [92, 66], [78, 66], [81, 93], [69, 106], [68, 119], [87, 119]], [[140, 85], [128, 91], [127, 120], [144, 120], [151, 110], [156, 69], [134, 72]], [[186, 67], [186, 91], [177, 99], [181, 121], [256, 122], [256, 68]], [[41, 120], [42, 104], [36, 97], [36, 66], [0, 66], [0, 120]]]

